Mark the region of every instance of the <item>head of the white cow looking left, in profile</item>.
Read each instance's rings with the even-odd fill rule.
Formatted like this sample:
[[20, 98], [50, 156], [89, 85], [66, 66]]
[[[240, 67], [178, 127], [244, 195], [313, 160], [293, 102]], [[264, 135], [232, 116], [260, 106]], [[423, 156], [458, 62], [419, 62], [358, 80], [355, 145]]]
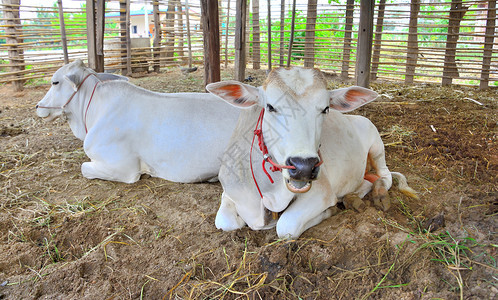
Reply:
[[52, 76], [52, 86], [36, 105], [36, 114], [48, 120], [54, 120], [62, 115], [64, 105], [78, 90], [85, 76], [90, 73], [94, 73], [93, 70], [85, 67], [79, 59], [57, 70]]

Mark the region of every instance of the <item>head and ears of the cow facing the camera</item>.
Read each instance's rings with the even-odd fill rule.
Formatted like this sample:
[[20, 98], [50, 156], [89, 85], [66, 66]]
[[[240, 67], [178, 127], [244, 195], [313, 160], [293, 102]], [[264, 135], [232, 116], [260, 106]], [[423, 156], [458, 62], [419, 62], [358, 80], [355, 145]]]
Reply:
[[322, 123], [329, 110], [352, 111], [377, 97], [374, 91], [361, 87], [329, 91], [319, 70], [297, 67], [272, 70], [259, 88], [236, 81], [212, 83], [206, 88], [232, 105], [265, 109], [264, 141], [274, 161], [293, 167], [283, 169], [282, 175], [294, 193], [309, 191], [319, 175]]

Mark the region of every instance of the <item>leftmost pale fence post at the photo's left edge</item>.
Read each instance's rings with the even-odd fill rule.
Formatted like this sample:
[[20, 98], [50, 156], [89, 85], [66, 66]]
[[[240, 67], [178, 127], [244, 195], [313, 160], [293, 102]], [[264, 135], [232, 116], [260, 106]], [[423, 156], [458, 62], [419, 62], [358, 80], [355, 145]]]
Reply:
[[[21, 20], [19, 8], [21, 5], [20, 0], [3, 0], [4, 14], [7, 27], [5, 28], [6, 38], [5, 41], [8, 46], [8, 55], [10, 60], [10, 70], [12, 72], [22, 72], [24, 67], [24, 51], [18, 44], [22, 43], [21, 36]], [[24, 80], [21, 74], [14, 75], [15, 80], [12, 81], [14, 91], [21, 91], [23, 89]]]

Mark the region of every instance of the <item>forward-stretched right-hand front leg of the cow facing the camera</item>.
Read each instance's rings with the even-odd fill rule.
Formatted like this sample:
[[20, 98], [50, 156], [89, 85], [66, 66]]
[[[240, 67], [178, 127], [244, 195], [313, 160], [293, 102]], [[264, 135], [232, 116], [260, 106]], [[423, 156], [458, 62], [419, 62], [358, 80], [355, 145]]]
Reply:
[[330, 217], [332, 210], [329, 207], [336, 203], [335, 195], [317, 194], [312, 191], [299, 195], [280, 216], [277, 222], [278, 237], [297, 239], [308, 228]]

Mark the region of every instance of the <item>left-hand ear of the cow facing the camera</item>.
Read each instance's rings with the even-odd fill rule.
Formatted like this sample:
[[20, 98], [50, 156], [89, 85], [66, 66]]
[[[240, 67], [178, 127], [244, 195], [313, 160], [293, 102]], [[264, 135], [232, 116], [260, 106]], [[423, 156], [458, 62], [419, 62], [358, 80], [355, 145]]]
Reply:
[[206, 90], [237, 107], [250, 107], [259, 103], [258, 88], [238, 81], [210, 83]]

